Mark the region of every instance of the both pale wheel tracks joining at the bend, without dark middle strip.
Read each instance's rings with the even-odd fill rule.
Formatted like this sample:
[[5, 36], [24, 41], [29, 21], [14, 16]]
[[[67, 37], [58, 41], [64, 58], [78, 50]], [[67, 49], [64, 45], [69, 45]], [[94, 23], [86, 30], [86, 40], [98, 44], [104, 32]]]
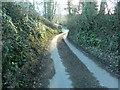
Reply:
[[99, 67], [93, 60], [85, 56], [77, 48], [74, 47], [68, 40], [67, 34], [69, 30], [63, 29], [63, 33], [57, 35], [51, 42], [51, 58], [54, 60], [56, 74], [50, 80], [50, 88], [72, 88], [72, 81], [69, 79], [69, 73], [65, 71], [65, 67], [61, 62], [60, 55], [57, 49], [57, 39], [64, 35], [64, 41], [70, 50], [81, 60], [87, 69], [93, 73], [96, 80], [99, 81], [100, 86], [107, 88], [118, 88], [118, 78], [111, 76], [107, 71]]

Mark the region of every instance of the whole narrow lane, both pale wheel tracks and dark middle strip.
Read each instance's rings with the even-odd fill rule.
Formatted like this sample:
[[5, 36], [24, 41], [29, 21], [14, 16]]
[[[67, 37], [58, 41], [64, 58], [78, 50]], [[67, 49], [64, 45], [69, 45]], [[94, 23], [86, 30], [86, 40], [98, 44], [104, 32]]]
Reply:
[[99, 67], [67, 40], [67, 29], [51, 42], [55, 75], [50, 88], [118, 88], [118, 79]]

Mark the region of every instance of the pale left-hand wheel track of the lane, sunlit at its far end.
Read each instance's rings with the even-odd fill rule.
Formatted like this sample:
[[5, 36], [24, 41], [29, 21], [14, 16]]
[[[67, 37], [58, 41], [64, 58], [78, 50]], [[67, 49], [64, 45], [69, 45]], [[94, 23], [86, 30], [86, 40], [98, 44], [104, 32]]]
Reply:
[[50, 80], [50, 88], [72, 88], [71, 81], [68, 79], [67, 72], [63, 66], [57, 50], [57, 39], [61, 36], [57, 35], [51, 42], [51, 58], [54, 60], [55, 76]]

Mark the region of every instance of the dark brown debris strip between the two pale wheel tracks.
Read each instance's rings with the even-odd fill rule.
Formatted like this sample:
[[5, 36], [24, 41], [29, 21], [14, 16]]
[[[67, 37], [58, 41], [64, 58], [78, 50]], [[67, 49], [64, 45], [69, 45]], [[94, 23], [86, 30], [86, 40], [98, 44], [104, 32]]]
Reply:
[[57, 41], [58, 52], [74, 88], [101, 88], [87, 67], [77, 58], [64, 42], [62, 36]]

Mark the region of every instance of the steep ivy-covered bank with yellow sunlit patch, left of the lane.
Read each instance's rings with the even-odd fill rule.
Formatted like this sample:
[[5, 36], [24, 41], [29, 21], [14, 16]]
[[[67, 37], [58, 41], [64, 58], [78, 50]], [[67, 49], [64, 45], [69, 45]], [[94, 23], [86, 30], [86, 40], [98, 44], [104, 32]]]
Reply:
[[[32, 7], [29, 11], [26, 9], [28, 4]], [[42, 17], [28, 4], [2, 3], [3, 88], [33, 88], [38, 74], [42, 87], [46, 66], [53, 63], [48, 59], [48, 44], [58, 31], [43, 24]], [[54, 69], [51, 72], [53, 75]]]

